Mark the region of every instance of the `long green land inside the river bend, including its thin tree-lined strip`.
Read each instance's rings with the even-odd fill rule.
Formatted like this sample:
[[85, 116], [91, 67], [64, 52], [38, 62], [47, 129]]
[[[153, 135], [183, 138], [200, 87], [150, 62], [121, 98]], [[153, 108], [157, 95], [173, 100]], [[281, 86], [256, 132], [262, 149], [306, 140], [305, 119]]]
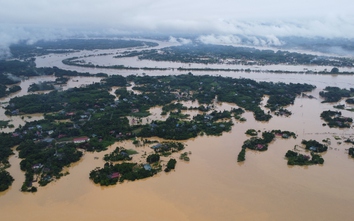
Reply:
[[[102, 54], [107, 55], [107, 54]], [[162, 49], [146, 49], [133, 50], [121, 53], [114, 56], [115, 58], [136, 57], [139, 60], [154, 60], [154, 61], [169, 61], [181, 62], [184, 64], [199, 63], [199, 64], [222, 64], [222, 65], [244, 65], [245, 68], [193, 68], [193, 67], [133, 67], [125, 65], [98, 65], [92, 62], [87, 62], [85, 59], [90, 56], [85, 55], [80, 57], [70, 57], [62, 62], [65, 65], [102, 68], [102, 69], [118, 69], [118, 70], [146, 70], [146, 71], [228, 71], [228, 72], [268, 72], [268, 73], [299, 73], [299, 74], [353, 74], [353, 72], [340, 72], [338, 67], [352, 67], [353, 60], [343, 57], [317, 56], [311, 54], [302, 54], [289, 51], [273, 51], [260, 50], [250, 47], [234, 47], [225, 45], [212, 44], [187, 44], [181, 46], [172, 46]], [[284, 70], [259, 70], [251, 69], [254, 65], [319, 65], [333, 66], [331, 70], [324, 69], [323, 71], [284, 71]]]

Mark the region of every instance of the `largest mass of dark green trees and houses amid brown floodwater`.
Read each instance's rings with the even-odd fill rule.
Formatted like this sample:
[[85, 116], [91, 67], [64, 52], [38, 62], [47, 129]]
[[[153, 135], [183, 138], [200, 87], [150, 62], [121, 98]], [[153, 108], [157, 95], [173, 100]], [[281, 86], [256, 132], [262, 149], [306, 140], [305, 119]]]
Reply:
[[[66, 76], [76, 76], [75, 72], [57, 68], [31, 68], [36, 70], [35, 74], [54, 74], [59, 82], [67, 82]], [[25, 171], [22, 191], [37, 191], [33, 181], [44, 186], [59, 179], [64, 175], [62, 173], [64, 166], [69, 166], [80, 159], [81, 149], [102, 151], [116, 141], [136, 137], [158, 136], [165, 139], [185, 140], [204, 134], [220, 136], [231, 130], [232, 118], [242, 121], [245, 110], [252, 111], [256, 120], [268, 121], [271, 113], [265, 113], [259, 107], [264, 95], [272, 99], [269, 108], [281, 110], [282, 105], [291, 104], [292, 99], [297, 95], [314, 88], [307, 84], [274, 84], [241, 78], [194, 76], [191, 73], [178, 76], [99, 75], [103, 78], [101, 83], [61, 92], [52, 91], [48, 94], [31, 94], [10, 99], [6, 114], [44, 113], [45, 118], [27, 122], [17, 128], [13, 134], [4, 134], [4, 137], [7, 137], [4, 139], [9, 144], [0, 149], [3, 152], [0, 156], [4, 159], [4, 165], [12, 153], [10, 147], [20, 144], [18, 150], [22, 159], [21, 169]], [[128, 83], [134, 83], [133, 90], [141, 94], [128, 91]], [[118, 100], [109, 93], [112, 86], [119, 87], [115, 91]], [[278, 94], [286, 98], [279, 97]], [[271, 98], [272, 96], [275, 98]], [[230, 111], [216, 111], [215, 99], [239, 107]], [[197, 101], [199, 107], [196, 109], [203, 113], [190, 119], [182, 113], [188, 108], [180, 101]], [[150, 121], [145, 125], [129, 124], [127, 116], [147, 116], [150, 114], [149, 109], [155, 106], [163, 106], [163, 111], [170, 112], [170, 116], [166, 120]], [[75, 138], [84, 138], [84, 141], [73, 143]], [[263, 132], [262, 138], [251, 140], [251, 146], [247, 148], [266, 150], [273, 138], [272, 132]], [[139, 145], [139, 142], [136, 144]], [[114, 178], [107, 178], [112, 173], [119, 173], [119, 180], [152, 176], [161, 171], [161, 156], [170, 156], [184, 149], [184, 145], [178, 142], [163, 142], [159, 145], [155, 145], [154, 154], [146, 156], [149, 164], [133, 166], [127, 164], [126, 167], [131, 167], [131, 171], [124, 173], [118, 168], [119, 166], [108, 164], [105, 168], [95, 170], [92, 179], [101, 185], [111, 185], [118, 182], [117, 174], [113, 176]], [[181, 156], [183, 160], [189, 160], [188, 155]], [[121, 148], [105, 156], [105, 160], [109, 162], [129, 159], [131, 159], [129, 151], [123, 151]], [[125, 173], [128, 175], [124, 175]]]

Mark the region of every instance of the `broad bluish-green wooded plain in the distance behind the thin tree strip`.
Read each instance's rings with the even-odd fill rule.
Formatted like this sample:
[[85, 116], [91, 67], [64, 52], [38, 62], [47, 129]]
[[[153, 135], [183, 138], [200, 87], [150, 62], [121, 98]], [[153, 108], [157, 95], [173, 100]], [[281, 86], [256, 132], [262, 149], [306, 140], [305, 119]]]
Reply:
[[188, 44], [163, 48], [161, 51], [145, 50], [141, 51], [140, 54], [137, 52], [127, 53], [126, 56], [130, 57], [139, 55], [139, 59], [204, 64], [314, 64], [332, 66], [340, 64], [348, 67], [353, 66], [351, 60], [345, 58], [319, 57], [316, 55], [301, 54], [296, 52], [259, 50], [255, 48], [224, 45]]

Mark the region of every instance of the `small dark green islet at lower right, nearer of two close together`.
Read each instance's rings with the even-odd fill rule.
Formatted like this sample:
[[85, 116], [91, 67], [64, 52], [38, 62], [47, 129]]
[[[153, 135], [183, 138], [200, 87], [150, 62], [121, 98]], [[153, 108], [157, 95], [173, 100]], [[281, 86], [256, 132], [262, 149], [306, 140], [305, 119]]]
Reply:
[[310, 157], [307, 155], [299, 154], [292, 150], [288, 150], [288, 152], [285, 154], [285, 157], [288, 159], [288, 165], [304, 166], [324, 163], [323, 158], [318, 154], [314, 154], [313, 152], [311, 152]]

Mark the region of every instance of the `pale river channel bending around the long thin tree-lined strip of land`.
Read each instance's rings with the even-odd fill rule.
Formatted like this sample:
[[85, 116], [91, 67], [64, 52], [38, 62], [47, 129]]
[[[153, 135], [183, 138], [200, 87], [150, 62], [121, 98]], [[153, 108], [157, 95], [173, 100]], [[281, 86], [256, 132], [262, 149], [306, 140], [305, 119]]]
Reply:
[[[192, 69], [239, 69], [246, 70], [251, 69], [260, 72], [267, 71], [292, 71], [292, 72], [329, 72], [333, 66], [319, 66], [319, 65], [241, 65], [241, 64], [202, 64], [202, 63], [182, 63], [182, 62], [170, 62], [170, 61], [153, 61], [153, 60], [139, 60], [137, 56], [135, 57], [123, 57], [123, 58], [115, 58], [117, 55], [121, 55], [126, 51], [142, 51], [146, 49], [161, 49], [164, 47], [177, 46], [181, 45], [180, 43], [171, 43], [171, 42], [163, 42], [163, 41], [154, 41], [159, 45], [156, 47], [132, 47], [129, 49], [107, 49], [107, 50], [83, 50], [80, 52], [73, 52], [67, 54], [49, 54], [40, 57], [36, 57], [36, 65], [37, 67], [52, 67], [57, 66], [61, 69], [65, 70], [76, 70], [81, 72], [90, 72], [90, 73], [100, 73], [104, 72], [107, 74], [135, 74], [137, 70], [114, 70], [114, 69], [101, 69], [101, 68], [86, 68], [86, 67], [76, 67], [76, 66], [68, 66], [62, 63], [62, 60], [66, 58], [78, 57], [80, 63], [84, 62], [84, 64], [94, 64], [99, 66], [113, 66], [113, 65], [124, 65], [125, 67], [137, 67], [137, 68], [166, 68], [168, 71], [148, 71], [144, 70], [143, 72], [151, 74], [151, 72], [161, 73], [161, 72], [169, 72], [170, 74], [180, 74], [181, 72], [177, 70], [177, 68], [192, 68]], [[333, 56], [331, 54], [327, 54], [327, 56]], [[353, 72], [353, 68], [351, 67], [341, 67], [340, 71]], [[194, 71], [199, 72], [199, 71]], [[234, 72], [231, 72], [234, 73]], [[236, 72], [238, 73], [238, 72]], [[207, 74], [213, 74], [213, 71], [207, 71]]]

